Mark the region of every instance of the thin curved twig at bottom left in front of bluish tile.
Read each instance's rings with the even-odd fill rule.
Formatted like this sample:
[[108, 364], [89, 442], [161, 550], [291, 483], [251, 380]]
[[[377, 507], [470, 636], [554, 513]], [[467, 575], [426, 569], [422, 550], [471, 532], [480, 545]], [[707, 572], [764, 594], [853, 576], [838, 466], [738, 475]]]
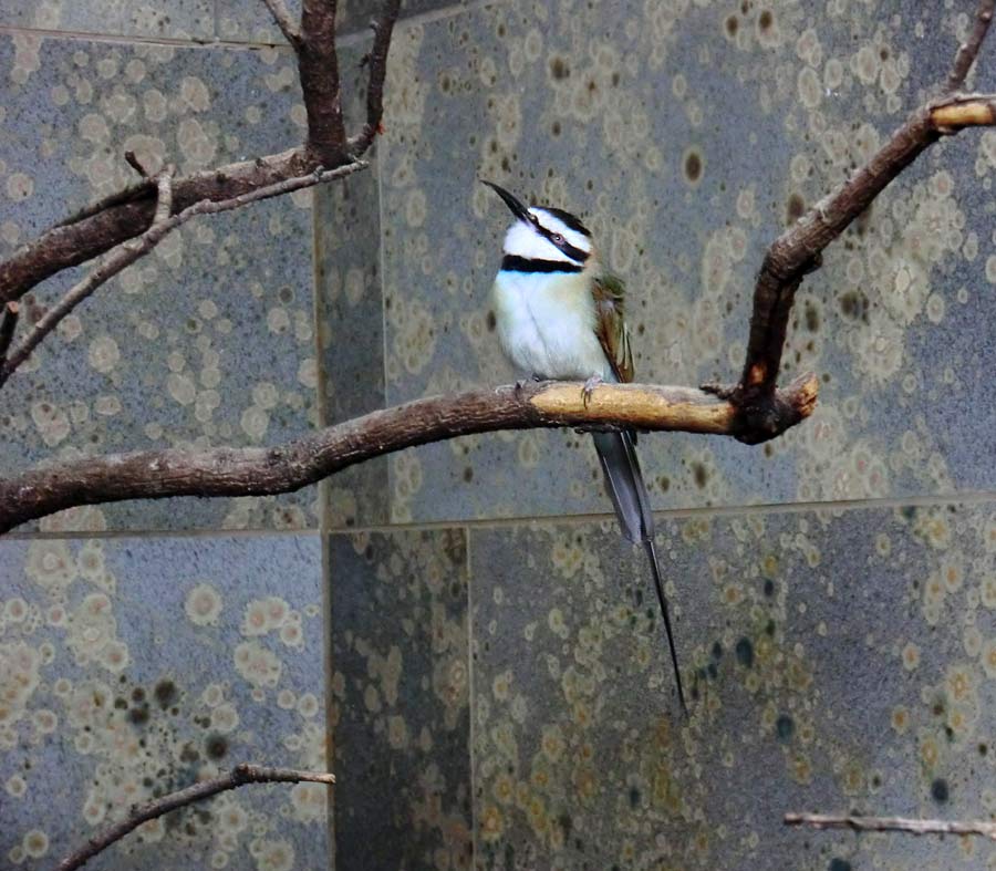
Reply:
[[70, 853], [59, 863], [59, 871], [75, 871], [82, 868], [97, 853], [106, 850], [112, 843], [120, 841], [128, 832], [137, 829], [143, 822], [162, 817], [172, 810], [177, 810], [195, 801], [237, 789], [246, 784], [311, 784], [335, 782], [335, 776], [324, 771], [295, 771], [292, 768], [264, 768], [258, 765], [238, 765], [226, 775], [210, 780], [201, 780], [186, 789], [162, 796], [146, 805], [133, 807], [127, 818], [110, 826], [100, 834], [91, 838], [83, 847]]

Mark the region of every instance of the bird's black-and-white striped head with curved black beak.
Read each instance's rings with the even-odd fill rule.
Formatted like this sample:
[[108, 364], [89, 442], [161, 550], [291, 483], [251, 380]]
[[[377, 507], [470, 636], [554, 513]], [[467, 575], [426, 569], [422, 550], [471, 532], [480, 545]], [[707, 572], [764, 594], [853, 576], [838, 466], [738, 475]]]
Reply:
[[527, 207], [494, 182], [484, 182], [515, 215], [505, 235], [505, 257], [515, 262], [544, 265], [542, 271], [580, 272], [594, 258], [591, 231], [578, 218], [562, 209]]

